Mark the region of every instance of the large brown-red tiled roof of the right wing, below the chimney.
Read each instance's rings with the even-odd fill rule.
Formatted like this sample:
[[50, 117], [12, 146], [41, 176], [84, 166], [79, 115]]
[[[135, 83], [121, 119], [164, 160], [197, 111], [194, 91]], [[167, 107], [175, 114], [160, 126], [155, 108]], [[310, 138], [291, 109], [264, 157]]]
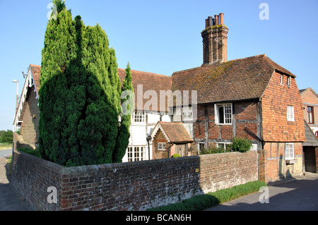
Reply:
[[263, 54], [175, 72], [172, 91], [197, 90], [198, 104], [257, 99], [263, 95], [274, 71], [295, 77]]

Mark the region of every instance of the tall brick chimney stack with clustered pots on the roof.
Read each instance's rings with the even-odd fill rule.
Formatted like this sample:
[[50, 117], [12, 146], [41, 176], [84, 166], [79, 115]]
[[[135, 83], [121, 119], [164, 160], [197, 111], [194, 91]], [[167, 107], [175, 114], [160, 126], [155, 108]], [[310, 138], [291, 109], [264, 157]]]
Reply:
[[204, 63], [228, 61], [228, 28], [224, 25], [224, 13], [208, 16], [206, 28], [201, 32]]

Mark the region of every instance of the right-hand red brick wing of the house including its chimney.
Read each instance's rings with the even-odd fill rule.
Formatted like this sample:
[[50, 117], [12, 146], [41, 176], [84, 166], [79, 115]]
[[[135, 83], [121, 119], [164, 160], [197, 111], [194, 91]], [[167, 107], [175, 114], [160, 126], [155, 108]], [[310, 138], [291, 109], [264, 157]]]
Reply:
[[223, 13], [208, 17], [201, 32], [204, 63], [172, 74], [172, 90], [198, 96], [196, 118], [179, 121], [192, 124], [198, 150], [226, 146], [233, 137], [251, 140], [262, 181], [302, 174], [305, 128], [296, 76], [266, 54], [228, 61], [227, 34]]

